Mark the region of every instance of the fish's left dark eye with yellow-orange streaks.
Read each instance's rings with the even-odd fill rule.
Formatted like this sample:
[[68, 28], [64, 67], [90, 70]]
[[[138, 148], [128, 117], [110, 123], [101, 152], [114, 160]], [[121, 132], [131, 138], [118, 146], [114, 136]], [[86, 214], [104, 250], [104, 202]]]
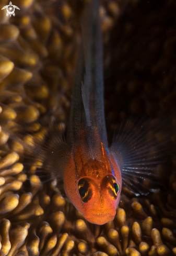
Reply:
[[80, 179], [78, 182], [78, 191], [81, 200], [87, 203], [92, 197], [92, 190], [89, 182], [86, 179]]

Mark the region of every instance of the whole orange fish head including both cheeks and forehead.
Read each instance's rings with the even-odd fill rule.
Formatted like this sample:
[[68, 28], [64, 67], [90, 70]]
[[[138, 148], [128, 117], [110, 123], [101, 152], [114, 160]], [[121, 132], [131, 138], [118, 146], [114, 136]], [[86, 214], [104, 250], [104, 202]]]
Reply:
[[84, 165], [77, 161], [76, 172], [74, 160], [71, 159], [64, 173], [68, 198], [93, 224], [103, 225], [113, 220], [120, 201], [121, 171], [111, 155], [110, 161], [112, 168], [110, 164], [108, 168], [108, 165], [98, 160], [89, 160]]

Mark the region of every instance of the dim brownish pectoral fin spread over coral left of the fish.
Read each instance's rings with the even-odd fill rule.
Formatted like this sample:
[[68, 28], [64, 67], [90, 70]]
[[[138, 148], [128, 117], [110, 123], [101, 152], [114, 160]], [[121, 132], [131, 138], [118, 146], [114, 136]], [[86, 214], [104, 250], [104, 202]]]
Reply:
[[[24, 126], [18, 126], [18, 129], [19, 131], [17, 132], [14, 131], [15, 127], [13, 129], [2, 127], [2, 130], [9, 135], [9, 138], [19, 142], [25, 148], [26, 154], [20, 154], [20, 157], [27, 160], [25, 165], [29, 168], [30, 166], [36, 166], [37, 175], [41, 173], [42, 168], [43, 176], [48, 176], [49, 173], [52, 179], [54, 177], [61, 177], [63, 179], [67, 160], [71, 156], [71, 149], [63, 140], [63, 135], [56, 129], [56, 125], [52, 124], [51, 127], [46, 128], [43, 138], [40, 138], [40, 136], [35, 136], [34, 138], [33, 136], [32, 144], [24, 142], [23, 137], [24, 135], [35, 135], [35, 133], [28, 127], [25, 129]], [[36, 164], [35, 161], [41, 162], [42, 166]]]

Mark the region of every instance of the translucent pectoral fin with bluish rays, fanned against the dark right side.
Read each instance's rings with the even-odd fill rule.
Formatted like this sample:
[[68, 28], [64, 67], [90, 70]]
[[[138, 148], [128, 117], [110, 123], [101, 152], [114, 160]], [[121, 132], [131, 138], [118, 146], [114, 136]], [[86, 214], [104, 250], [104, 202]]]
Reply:
[[[114, 135], [110, 151], [120, 166], [123, 184], [134, 194], [146, 195], [161, 184], [157, 180], [156, 166], [164, 162], [169, 152], [168, 131], [169, 127], [159, 119], [143, 118], [138, 123], [127, 120]], [[161, 138], [158, 138], [159, 133]], [[146, 179], [155, 187], [143, 184]]]

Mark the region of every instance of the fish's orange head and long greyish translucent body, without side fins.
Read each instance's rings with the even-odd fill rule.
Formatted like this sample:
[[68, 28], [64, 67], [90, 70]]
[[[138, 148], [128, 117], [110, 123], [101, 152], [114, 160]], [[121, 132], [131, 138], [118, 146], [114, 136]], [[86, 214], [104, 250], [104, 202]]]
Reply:
[[99, 1], [85, 5], [82, 43], [67, 130], [71, 149], [64, 171], [65, 192], [91, 223], [114, 219], [122, 187], [121, 171], [109, 152], [104, 120], [102, 38]]

